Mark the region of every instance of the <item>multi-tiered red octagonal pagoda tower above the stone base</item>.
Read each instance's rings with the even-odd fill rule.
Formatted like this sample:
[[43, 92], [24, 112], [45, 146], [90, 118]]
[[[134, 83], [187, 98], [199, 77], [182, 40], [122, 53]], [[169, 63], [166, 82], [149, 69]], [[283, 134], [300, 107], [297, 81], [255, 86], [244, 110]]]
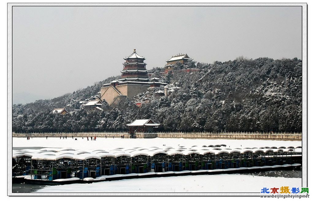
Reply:
[[148, 82], [146, 63], [144, 63], [145, 58], [136, 53], [133, 53], [125, 58], [125, 63], [123, 63], [123, 70], [121, 71], [120, 81], [139, 81]]

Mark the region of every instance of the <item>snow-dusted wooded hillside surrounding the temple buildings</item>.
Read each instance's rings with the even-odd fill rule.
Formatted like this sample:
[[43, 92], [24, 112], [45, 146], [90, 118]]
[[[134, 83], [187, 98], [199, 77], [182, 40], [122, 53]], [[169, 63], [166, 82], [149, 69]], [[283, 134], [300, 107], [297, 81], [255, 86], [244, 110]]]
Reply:
[[[176, 65], [173, 74], [160, 75], [161, 68], [150, 73], [181, 89], [170, 96], [154, 96], [141, 108], [129, 99], [116, 106], [103, 106], [102, 112], [79, 109], [59, 116], [55, 107], [71, 104], [97, 95], [102, 84], [119, 77], [110, 77], [93, 86], [51, 100], [14, 105], [18, 131], [100, 131], [126, 130], [134, 119], [152, 118], [162, 123], [161, 130], [174, 131], [264, 131], [300, 132], [302, 128], [301, 60], [258, 58], [214, 62], [189, 62]], [[195, 68], [186, 73], [181, 69]], [[143, 93], [144, 95], [145, 93]]]

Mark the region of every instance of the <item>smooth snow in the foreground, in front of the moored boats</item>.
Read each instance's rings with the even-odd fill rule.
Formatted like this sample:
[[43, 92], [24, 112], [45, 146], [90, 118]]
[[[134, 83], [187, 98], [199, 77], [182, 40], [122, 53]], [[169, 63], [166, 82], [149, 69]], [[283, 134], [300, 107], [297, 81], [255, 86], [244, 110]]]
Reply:
[[240, 174], [189, 175], [177, 177], [123, 179], [92, 184], [46, 186], [36, 192], [61, 193], [260, 193], [263, 187], [301, 187], [301, 178], [261, 177]]

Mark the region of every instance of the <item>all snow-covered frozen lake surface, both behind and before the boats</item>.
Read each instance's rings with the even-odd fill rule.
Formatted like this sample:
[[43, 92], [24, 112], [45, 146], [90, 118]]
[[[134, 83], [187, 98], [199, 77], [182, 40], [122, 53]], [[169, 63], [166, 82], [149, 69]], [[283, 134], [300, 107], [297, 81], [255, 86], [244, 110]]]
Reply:
[[[75, 137], [74, 137], [75, 138]], [[300, 146], [301, 141], [273, 141], [273, 140], [230, 140], [230, 139], [183, 139], [183, 138], [153, 138], [153, 139], [121, 139], [100, 138], [87, 141], [78, 137], [60, 139], [56, 137], [13, 138], [13, 147], [45, 147], [45, 148], [74, 148], [74, 149], [111, 149], [133, 147], [168, 147], [203, 146], [226, 144], [227, 148], [271, 147], [271, 146]], [[223, 147], [224, 148], [224, 147]], [[262, 177], [243, 174], [196, 175], [179, 177], [160, 177], [146, 179], [123, 179], [117, 181], [97, 182], [92, 184], [69, 184], [46, 186], [37, 192], [58, 193], [193, 193], [193, 192], [253, 192], [259, 194], [263, 187], [301, 187], [301, 178]], [[249, 194], [246, 194], [249, 195]]]

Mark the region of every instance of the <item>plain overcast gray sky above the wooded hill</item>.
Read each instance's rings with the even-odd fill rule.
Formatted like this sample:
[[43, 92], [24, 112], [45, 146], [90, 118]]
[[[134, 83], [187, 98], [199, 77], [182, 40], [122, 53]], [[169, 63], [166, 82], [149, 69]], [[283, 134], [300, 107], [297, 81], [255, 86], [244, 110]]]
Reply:
[[13, 7], [13, 103], [120, 75], [133, 49], [146, 68], [196, 61], [301, 59], [301, 7]]

